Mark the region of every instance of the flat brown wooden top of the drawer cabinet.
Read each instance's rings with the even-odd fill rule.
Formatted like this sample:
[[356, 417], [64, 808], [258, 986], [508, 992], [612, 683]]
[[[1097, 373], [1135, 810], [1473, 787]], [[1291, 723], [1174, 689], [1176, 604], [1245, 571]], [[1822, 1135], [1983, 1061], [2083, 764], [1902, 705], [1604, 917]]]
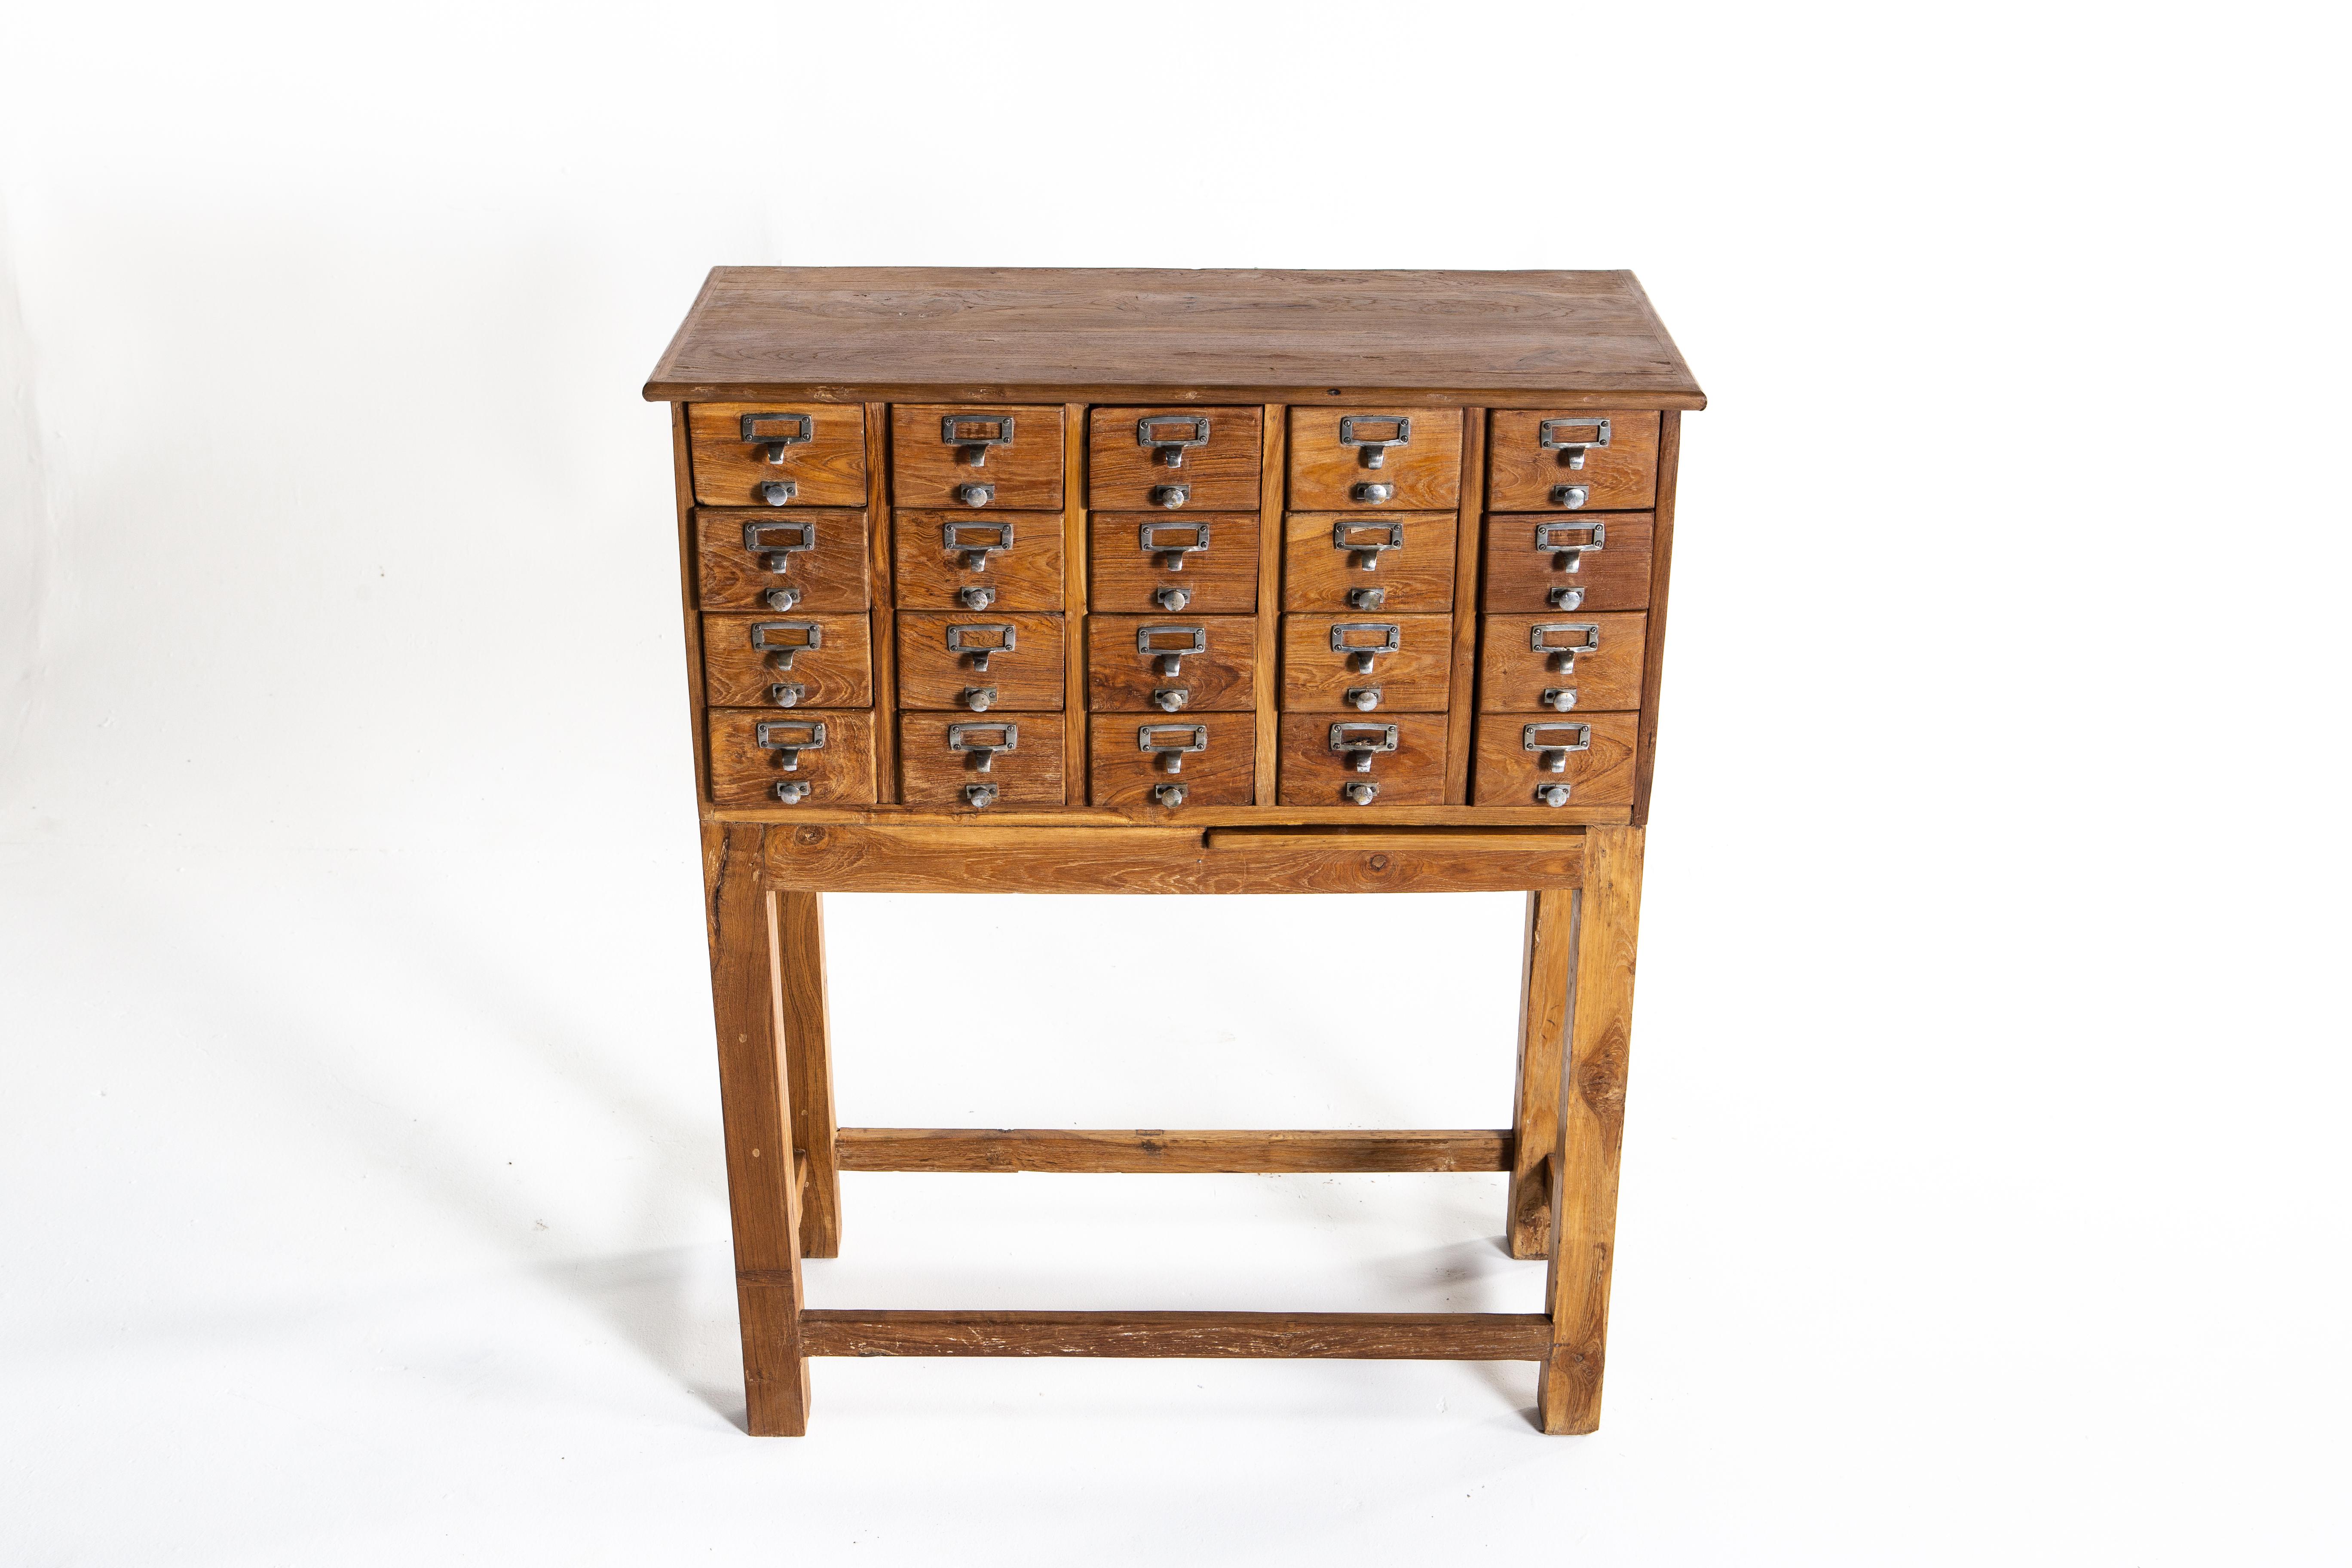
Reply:
[[652, 402], [1703, 409], [1632, 273], [713, 268]]

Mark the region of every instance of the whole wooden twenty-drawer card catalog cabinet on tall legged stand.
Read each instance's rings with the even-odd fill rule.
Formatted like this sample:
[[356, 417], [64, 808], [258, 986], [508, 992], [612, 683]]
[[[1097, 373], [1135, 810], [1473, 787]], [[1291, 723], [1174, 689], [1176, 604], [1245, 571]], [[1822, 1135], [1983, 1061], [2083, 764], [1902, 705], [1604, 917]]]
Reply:
[[[809, 1356], [1541, 1363], [1599, 1425], [1682, 414], [1630, 273], [717, 268], [670, 404], [755, 1434]], [[833, 1121], [821, 896], [1526, 891], [1494, 1131]], [[1545, 1312], [837, 1312], [842, 1171], [1508, 1171]]]

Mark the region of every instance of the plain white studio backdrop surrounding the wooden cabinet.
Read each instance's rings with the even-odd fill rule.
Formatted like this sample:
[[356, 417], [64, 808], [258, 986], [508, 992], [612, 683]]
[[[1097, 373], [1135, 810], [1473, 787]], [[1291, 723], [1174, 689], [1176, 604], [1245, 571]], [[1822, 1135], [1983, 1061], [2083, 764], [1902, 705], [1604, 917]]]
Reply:
[[[2352, 1554], [2331, 12], [0, 14], [7, 1561]], [[948, 1361], [736, 1432], [635, 388], [753, 261], [1642, 273], [1715, 407], [1599, 1436]], [[842, 1117], [1496, 1124], [1515, 943], [835, 900]], [[811, 1293], [1531, 1307], [1498, 1229], [866, 1175]]]

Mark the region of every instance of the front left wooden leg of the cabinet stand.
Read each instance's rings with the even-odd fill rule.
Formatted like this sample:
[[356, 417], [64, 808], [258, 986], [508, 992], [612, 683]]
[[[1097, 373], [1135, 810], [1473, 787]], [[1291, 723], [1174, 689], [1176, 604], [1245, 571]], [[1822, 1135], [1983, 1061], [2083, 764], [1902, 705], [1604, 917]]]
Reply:
[[800, 1175], [793, 1086], [783, 1056], [783, 917], [757, 823], [703, 825], [710, 1001], [727, 1126], [736, 1307], [743, 1316], [743, 1403], [753, 1436], [809, 1429], [809, 1361], [800, 1340]]

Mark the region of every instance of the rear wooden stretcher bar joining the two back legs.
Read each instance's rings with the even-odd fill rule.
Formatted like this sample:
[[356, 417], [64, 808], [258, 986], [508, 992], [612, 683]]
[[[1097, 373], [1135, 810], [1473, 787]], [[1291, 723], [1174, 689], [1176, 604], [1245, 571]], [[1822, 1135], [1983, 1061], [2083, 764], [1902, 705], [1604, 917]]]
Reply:
[[[1555, 1072], [1555, 1088], [1557, 1088]], [[1510, 1171], [1510, 1133], [844, 1126], [844, 1171]]]

